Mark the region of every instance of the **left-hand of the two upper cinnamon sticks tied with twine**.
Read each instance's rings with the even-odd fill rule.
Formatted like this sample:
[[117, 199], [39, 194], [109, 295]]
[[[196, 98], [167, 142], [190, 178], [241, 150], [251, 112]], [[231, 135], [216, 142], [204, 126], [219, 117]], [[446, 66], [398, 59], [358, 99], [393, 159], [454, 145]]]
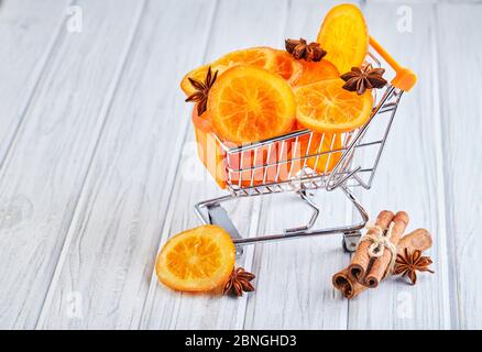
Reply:
[[[381, 229], [388, 228], [388, 224], [392, 222], [393, 212], [388, 210], [383, 210], [376, 217], [375, 226]], [[371, 229], [368, 233], [375, 233], [376, 229]], [[369, 246], [372, 244], [371, 241], [362, 241], [360, 242], [357, 252], [353, 255], [353, 260], [351, 264], [348, 266], [348, 275], [352, 278], [352, 280], [363, 283], [364, 277], [369, 271], [369, 266], [371, 264], [371, 258], [369, 256]]]

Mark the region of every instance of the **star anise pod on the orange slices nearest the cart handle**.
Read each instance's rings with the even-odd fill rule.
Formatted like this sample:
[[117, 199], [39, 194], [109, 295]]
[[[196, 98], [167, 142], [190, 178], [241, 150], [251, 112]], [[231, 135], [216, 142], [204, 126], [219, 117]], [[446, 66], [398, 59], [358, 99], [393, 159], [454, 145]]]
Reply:
[[386, 79], [382, 77], [384, 73], [384, 68], [373, 68], [372, 64], [368, 64], [362, 67], [352, 67], [349, 73], [340, 77], [346, 81], [344, 89], [362, 95], [366, 89], [384, 87], [386, 85]]

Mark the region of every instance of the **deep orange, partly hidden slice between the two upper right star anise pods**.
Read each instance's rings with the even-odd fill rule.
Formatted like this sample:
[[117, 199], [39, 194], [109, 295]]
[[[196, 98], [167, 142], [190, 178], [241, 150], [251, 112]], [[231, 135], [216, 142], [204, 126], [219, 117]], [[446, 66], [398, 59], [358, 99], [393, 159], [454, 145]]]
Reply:
[[306, 59], [300, 59], [298, 62], [302, 65], [302, 72], [289, 80], [295, 87], [340, 77], [337, 67], [326, 59], [320, 62], [307, 62]]

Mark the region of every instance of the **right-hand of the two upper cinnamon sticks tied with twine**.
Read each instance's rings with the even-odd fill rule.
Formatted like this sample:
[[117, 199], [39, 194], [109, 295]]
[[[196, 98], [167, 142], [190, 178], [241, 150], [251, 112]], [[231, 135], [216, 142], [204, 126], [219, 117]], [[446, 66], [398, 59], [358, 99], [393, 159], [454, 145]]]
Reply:
[[[392, 221], [394, 222], [394, 226], [392, 229], [392, 235], [390, 238], [390, 241], [393, 244], [398, 244], [398, 241], [407, 228], [408, 220], [408, 215], [405, 211], [398, 211], [395, 217], [393, 217]], [[364, 283], [361, 284], [364, 284], [370, 288], [375, 288], [379, 286], [380, 282], [384, 278], [385, 273], [388, 270], [391, 261], [392, 252], [386, 249], [381, 257], [377, 257], [373, 261]]]

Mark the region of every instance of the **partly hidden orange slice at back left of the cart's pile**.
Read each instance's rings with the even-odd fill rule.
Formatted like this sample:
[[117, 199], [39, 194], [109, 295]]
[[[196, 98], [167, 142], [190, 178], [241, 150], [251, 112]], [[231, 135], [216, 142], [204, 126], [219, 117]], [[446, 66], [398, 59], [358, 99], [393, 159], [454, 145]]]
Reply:
[[195, 92], [195, 89], [188, 80], [189, 77], [204, 81], [209, 66], [211, 66], [213, 72], [217, 70], [219, 76], [224, 70], [235, 65], [253, 65], [266, 69], [273, 69], [275, 67], [275, 52], [270, 47], [262, 46], [226, 54], [211, 64], [200, 66], [189, 72], [180, 81], [180, 89], [183, 89], [186, 96], [190, 96]]

